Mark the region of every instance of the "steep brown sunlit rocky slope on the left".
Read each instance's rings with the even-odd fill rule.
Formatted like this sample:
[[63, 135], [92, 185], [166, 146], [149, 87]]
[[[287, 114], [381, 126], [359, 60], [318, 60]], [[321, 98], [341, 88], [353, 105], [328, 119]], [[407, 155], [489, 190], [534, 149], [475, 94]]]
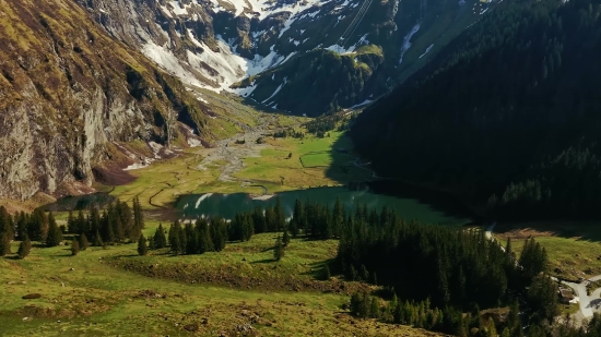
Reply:
[[209, 136], [182, 84], [75, 2], [0, 0], [0, 197], [90, 185], [111, 144], [184, 137], [177, 120]]

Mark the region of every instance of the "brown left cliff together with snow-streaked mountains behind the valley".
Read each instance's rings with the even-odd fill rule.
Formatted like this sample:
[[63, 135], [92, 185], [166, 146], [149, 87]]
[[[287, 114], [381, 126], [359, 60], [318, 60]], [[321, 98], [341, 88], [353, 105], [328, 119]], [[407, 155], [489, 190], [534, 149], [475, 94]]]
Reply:
[[[232, 95], [308, 116], [373, 101], [493, 4], [43, 0], [0, 7], [0, 197], [25, 200], [127, 181], [113, 168], [169, 157], [163, 147], [170, 143], [208, 145], [223, 136], [223, 123], [244, 128], [235, 115], [245, 108], [223, 104]], [[208, 89], [223, 95], [210, 99]]]

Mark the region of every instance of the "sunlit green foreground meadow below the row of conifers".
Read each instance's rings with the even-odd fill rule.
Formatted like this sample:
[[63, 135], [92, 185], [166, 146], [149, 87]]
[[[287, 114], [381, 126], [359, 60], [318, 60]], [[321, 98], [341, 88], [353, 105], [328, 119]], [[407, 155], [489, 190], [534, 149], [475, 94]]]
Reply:
[[[155, 227], [148, 224], [146, 234]], [[25, 260], [9, 255], [0, 258], [0, 335], [243, 336], [245, 324], [261, 336], [435, 335], [357, 321], [341, 310], [346, 291], [366, 286], [314, 277], [335, 253], [334, 241], [293, 240], [281, 262], [273, 261], [272, 245], [273, 236], [261, 234], [198, 256], [138, 256], [135, 244], [90, 248], [76, 256], [67, 246], [34, 248]], [[215, 281], [151, 275], [132, 265], [212, 275]], [[224, 273], [229, 280], [220, 280]], [[264, 281], [236, 285], [255, 276]], [[320, 286], [285, 290], [291, 278]], [[343, 288], [325, 290], [333, 285]], [[42, 298], [22, 299], [28, 293]]]

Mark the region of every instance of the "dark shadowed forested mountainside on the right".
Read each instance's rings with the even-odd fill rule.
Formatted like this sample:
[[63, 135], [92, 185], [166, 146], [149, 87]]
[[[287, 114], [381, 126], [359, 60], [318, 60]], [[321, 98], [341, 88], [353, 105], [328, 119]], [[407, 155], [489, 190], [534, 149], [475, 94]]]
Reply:
[[496, 217], [600, 218], [599, 0], [511, 1], [358, 117], [379, 174]]

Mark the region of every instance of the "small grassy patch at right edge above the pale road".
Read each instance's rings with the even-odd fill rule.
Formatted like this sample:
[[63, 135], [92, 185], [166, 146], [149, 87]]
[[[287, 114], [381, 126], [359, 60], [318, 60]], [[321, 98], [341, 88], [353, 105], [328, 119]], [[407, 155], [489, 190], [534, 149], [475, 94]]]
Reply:
[[500, 224], [495, 237], [511, 238], [516, 253], [526, 239], [533, 237], [546, 249], [551, 274], [568, 278], [588, 278], [601, 274], [601, 226], [591, 222]]

